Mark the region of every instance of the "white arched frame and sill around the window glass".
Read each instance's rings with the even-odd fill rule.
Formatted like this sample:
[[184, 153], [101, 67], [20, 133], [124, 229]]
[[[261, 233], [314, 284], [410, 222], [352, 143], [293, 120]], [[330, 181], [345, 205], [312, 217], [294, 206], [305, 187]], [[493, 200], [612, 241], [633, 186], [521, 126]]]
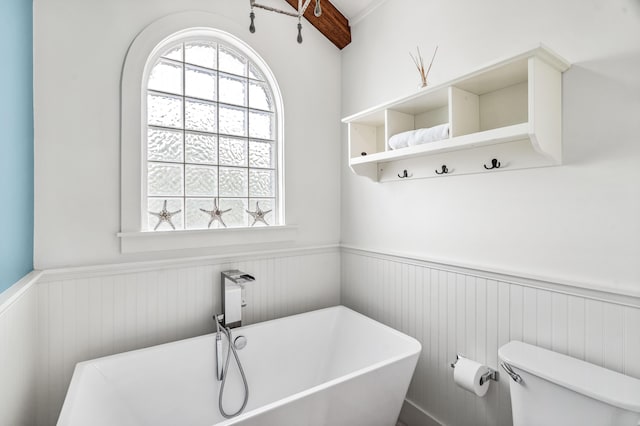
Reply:
[[[212, 28], [215, 25], [215, 29]], [[237, 24], [206, 12], [184, 12], [161, 18], [145, 28], [127, 52], [121, 82], [121, 251], [123, 253], [204, 247], [271, 245], [294, 241], [297, 227], [285, 225], [284, 108], [276, 79], [266, 62], [247, 43], [232, 35]], [[263, 72], [271, 86], [276, 113], [277, 200], [280, 225], [203, 230], [146, 230], [146, 90], [155, 59], [170, 45], [194, 37], [214, 37], [242, 52]]]

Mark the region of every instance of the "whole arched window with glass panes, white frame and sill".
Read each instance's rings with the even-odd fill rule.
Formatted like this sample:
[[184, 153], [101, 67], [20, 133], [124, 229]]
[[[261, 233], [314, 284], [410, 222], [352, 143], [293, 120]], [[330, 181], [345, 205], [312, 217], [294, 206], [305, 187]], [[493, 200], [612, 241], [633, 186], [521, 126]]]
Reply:
[[[285, 222], [282, 96], [265, 61], [233, 35], [242, 31], [224, 16], [188, 11], [132, 41], [120, 87], [123, 253], [297, 239]], [[269, 226], [255, 221], [257, 207], [271, 210]]]

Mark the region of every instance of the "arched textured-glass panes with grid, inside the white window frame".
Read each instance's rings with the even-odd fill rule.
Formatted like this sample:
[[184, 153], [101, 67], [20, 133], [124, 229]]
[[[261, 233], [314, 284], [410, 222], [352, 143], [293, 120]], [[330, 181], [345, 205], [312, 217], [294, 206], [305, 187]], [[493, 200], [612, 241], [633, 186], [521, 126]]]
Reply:
[[142, 230], [281, 223], [281, 112], [269, 74], [221, 31], [187, 32], [154, 49], [141, 102]]

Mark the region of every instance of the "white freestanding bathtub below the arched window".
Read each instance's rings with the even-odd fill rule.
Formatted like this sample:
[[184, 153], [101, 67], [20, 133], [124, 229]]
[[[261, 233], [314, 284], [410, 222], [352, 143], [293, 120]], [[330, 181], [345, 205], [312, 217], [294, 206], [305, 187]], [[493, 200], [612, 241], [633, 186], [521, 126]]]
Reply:
[[[58, 425], [393, 426], [421, 350], [344, 306], [232, 331], [247, 338], [238, 355], [249, 402], [239, 416], [218, 411], [209, 334], [79, 363]], [[224, 407], [234, 412], [243, 388], [230, 365]]]

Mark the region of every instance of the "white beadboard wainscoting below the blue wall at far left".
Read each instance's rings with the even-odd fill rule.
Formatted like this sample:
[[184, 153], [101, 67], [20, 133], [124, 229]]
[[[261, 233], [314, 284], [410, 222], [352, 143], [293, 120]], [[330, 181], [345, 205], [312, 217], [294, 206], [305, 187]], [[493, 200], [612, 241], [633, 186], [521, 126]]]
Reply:
[[39, 272], [0, 294], [0, 425], [36, 422]]

